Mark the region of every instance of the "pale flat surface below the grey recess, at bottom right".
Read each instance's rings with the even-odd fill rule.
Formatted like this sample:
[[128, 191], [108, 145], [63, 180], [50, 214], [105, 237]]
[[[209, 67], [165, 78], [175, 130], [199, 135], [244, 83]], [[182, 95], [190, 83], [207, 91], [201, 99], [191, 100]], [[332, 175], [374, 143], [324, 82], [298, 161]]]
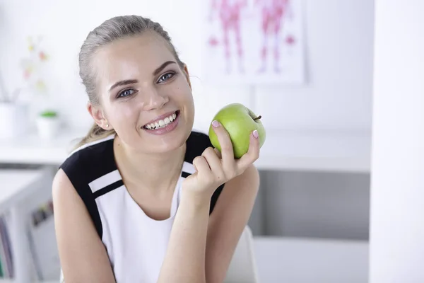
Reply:
[[260, 283], [367, 283], [368, 243], [255, 237]]

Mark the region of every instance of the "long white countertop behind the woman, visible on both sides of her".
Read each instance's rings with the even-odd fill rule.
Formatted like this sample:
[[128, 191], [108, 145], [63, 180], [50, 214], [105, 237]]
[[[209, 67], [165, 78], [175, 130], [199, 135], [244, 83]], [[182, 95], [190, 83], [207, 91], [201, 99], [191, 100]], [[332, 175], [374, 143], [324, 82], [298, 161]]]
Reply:
[[[61, 164], [86, 130], [65, 130], [45, 141], [35, 134], [0, 139], [0, 163]], [[371, 138], [362, 131], [268, 132], [257, 168], [281, 171], [370, 172]]]

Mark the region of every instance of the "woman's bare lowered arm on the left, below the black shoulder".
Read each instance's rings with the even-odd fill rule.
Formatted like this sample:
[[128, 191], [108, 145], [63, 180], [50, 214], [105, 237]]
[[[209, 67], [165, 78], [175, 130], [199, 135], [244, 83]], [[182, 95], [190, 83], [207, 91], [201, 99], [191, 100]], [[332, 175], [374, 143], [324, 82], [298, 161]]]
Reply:
[[105, 246], [71, 181], [59, 169], [53, 180], [54, 226], [66, 283], [114, 283]]

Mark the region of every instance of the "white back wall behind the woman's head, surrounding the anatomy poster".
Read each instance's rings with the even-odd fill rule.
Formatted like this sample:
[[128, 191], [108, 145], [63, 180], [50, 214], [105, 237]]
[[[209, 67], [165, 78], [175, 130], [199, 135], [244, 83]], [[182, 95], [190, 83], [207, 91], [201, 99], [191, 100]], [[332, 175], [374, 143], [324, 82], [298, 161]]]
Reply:
[[[272, 128], [370, 128], [373, 1], [302, 0], [305, 3], [307, 85], [211, 87], [201, 82], [201, 2], [0, 0], [0, 70], [8, 87], [18, 86], [18, 59], [25, 37], [43, 34], [52, 56], [49, 76], [54, 102], [71, 125], [85, 126], [86, 94], [79, 83], [78, 50], [106, 18], [136, 13], [170, 31], [191, 71], [196, 124], [207, 128], [223, 105], [251, 106]], [[254, 93], [251, 100], [249, 93]], [[254, 104], [254, 105], [252, 105]]]

